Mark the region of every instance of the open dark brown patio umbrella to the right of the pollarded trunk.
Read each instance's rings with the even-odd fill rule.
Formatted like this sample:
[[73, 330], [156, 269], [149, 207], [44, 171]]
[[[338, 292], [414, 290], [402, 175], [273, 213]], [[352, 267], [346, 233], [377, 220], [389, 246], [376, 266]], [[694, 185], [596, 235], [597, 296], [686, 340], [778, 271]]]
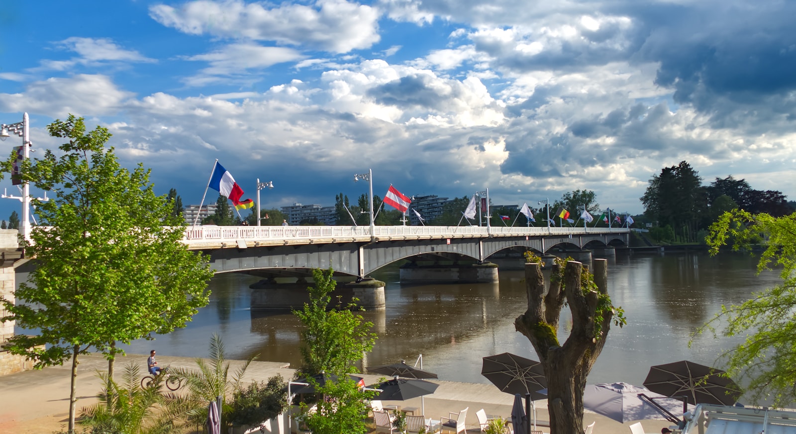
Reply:
[[687, 396], [693, 405], [733, 405], [743, 391], [722, 374], [724, 370], [682, 360], [650, 367], [644, 386], [667, 397]]

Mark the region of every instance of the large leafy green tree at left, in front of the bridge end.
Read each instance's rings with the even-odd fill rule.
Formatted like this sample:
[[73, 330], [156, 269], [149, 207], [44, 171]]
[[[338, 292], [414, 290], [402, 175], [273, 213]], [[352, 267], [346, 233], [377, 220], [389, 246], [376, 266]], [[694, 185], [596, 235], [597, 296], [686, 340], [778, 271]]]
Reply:
[[[48, 126], [53, 137], [68, 138], [60, 157], [51, 150], [23, 162], [22, 178], [51, 192], [49, 201], [33, 200], [49, 227], [33, 227], [21, 245], [37, 268], [15, 296], [0, 300], [15, 320], [37, 335], [15, 335], [6, 344], [36, 366], [72, 359], [69, 397], [70, 432], [75, 428], [78, 356], [91, 347], [112, 359], [117, 341], [130, 343], [151, 332], [184, 327], [207, 304], [213, 276], [200, 254], [181, 242], [185, 223], [171, 215], [170, 204], [155, 196], [150, 171], [119, 166], [111, 134], [101, 126], [86, 132], [82, 118], [69, 115]], [[14, 160], [2, 162], [2, 172]]]

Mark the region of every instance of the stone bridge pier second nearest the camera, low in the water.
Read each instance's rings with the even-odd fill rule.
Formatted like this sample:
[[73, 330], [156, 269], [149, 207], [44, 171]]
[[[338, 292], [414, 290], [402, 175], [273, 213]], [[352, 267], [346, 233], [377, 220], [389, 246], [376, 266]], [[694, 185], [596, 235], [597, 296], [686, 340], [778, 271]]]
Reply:
[[494, 283], [497, 282], [497, 264], [402, 265], [401, 283]]

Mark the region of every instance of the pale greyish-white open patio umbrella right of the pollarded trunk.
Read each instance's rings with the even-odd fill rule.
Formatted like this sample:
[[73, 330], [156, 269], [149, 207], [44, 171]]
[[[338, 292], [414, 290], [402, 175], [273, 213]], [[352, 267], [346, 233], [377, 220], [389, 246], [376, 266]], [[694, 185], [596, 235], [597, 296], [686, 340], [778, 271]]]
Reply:
[[650, 392], [646, 387], [633, 386], [623, 382], [587, 385], [583, 392], [583, 408], [610, 417], [622, 424], [630, 420], [672, 420], [650, 402], [639, 397], [641, 394], [650, 398], [666, 398], [655, 399], [654, 402], [671, 413], [670, 417], [676, 418], [673, 415], [683, 413], [682, 401]]

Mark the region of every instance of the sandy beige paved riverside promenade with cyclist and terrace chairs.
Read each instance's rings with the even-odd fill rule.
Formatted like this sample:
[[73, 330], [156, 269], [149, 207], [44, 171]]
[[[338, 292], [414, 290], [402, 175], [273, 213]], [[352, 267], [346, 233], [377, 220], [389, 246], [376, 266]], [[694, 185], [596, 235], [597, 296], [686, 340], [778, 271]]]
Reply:
[[[146, 355], [127, 355], [116, 360], [116, 379], [122, 376], [124, 366], [129, 362], [140, 366], [141, 373], [146, 374]], [[240, 361], [231, 361], [232, 370], [240, 365]], [[196, 366], [195, 358], [169, 357], [158, 355], [159, 366], [179, 366], [192, 368]], [[481, 366], [473, 366], [481, 370]], [[69, 374], [70, 366], [51, 366], [43, 370], [25, 371], [18, 374], [0, 377], [0, 432], [15, 434], [50, 434], [65, 429], [69, 409]], [[78, 373], [77, 408], [92, 405], [96, 402], [96, 393], [102, 387], [96, 376], [97, 370], [107, 370], [107, 361], [101, 355], [80, 356]], [[249, 365], [244, 382], [266, 381], [274, 375], [282, 375], [286, 380], [292, 378], [294, 370], [287, 363], [252, 362]], [[444, 377], [444, 373], [438, 373]], [[366, 384], [370, 385], [382, 378], [380, 375], [363, 374]], [[467, 431], [478, 432], [478, 419], [475, 412], [484, 409], [487, 414], [501, 415], [509, 418], [513, 396], [502, 393], [491, 384], [447, 382], [431, 380], [439, 384], [433, 395], [425, 398], [426, 417], [439, 419], [449, 416], [448, 412], [458, 412], [466, 407]], [[384, 401], [385, 405], [420, 408], [420, 398], [408, 401]], [[547, 402], [536, 401], [537, 417], [548, 420]], [[629, 424], [620, 424], [615, 420], [586, 412], [584, 425], [596, 421], [593, 434], [625, 434], [630, 432]], [[665, 420], [643, 420], [646, 432], [661, 432], [668, 427]], [[541, 428], [550, 432], [549, 428]]]

